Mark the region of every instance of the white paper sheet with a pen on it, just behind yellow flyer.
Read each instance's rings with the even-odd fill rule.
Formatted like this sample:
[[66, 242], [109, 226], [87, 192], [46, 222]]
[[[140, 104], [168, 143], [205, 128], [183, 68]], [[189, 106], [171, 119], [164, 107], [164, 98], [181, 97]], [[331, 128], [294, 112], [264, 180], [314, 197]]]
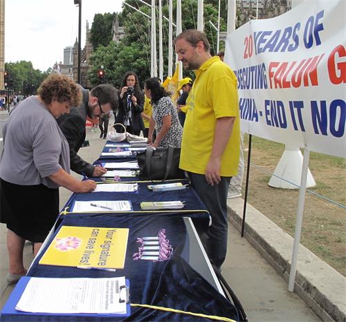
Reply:
[[93, 200], [75, 201], [73, 212], [84, 211], [131, 211], [131, 201], [129, 200]]

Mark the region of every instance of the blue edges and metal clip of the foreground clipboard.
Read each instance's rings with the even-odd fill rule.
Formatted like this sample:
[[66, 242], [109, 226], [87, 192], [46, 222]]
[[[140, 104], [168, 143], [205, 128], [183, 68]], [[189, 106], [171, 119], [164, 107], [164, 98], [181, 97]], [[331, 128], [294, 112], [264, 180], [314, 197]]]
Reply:
[[[130, 307], [130, 294], [129, 294], [129, 280], [126, 279], [125, 283], [126, 286], [120, 286], [122, 288], [126, 287], [126, 292], [122, 292], [122, 294], [125, 294], [122, 296], [121, 301], [127, 301], [126, 304], [126, 313], [125, 314], [116, 314], [116, 313], [37, 313], [37, 312], [23, 312], [16, 310], [15, 307], [21, 298], [21, 294], [23, 294], [26, 285], [30, 281], [30, 276], [23, 276], [18, 281], [17, 285], [15, 286], [14, 290], [10, 294], [10, 297], [8, 298], [8, 301], [3, 305], [3, 308], [1, 310], [1, 316], [5, 318], [5, 316], [14, 316], [14, 315], [30, 315], [30, 316], [95, 316], [95, 317], [126, 317], [131, 315], [131, 307]], [[2, 319], [1, 319], [2, 321]]]

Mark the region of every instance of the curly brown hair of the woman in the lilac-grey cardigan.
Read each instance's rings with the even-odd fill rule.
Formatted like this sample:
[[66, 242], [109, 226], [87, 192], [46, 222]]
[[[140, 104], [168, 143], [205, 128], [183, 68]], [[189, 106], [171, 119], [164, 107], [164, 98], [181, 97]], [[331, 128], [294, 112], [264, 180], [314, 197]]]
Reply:
[[82, 102], [80, 86], [65, 75], [53, 73], [49, 75], [37, 90], [37, 94], [46, 104], [51, 104], [53, 98], [57, 102], [69, 102], [71, 106], [79, 106]]

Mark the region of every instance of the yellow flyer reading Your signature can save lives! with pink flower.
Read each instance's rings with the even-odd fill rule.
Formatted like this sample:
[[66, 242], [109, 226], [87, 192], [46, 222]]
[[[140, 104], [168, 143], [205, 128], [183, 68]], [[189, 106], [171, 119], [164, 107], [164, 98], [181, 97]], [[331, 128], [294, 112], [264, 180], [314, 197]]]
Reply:
[[122, 269], [128, 228], [62, 226], [39, 264]]

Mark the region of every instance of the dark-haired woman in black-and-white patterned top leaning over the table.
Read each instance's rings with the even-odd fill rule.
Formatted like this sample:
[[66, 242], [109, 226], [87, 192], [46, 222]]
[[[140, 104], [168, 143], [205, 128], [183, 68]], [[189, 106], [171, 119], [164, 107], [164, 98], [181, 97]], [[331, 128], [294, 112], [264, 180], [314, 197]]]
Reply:
[[[183, 128], [178, 119], [176, 106], [174, 106], [169, 94], [156, 77], [145, 81], [144, 93], [151, 100], [153, 106], [152, 118], [149, 122], [148, 143], [156, 148], [167, 148], [168, 146], [180, 148]], [[152, 142], [154, 129], [156, 130], [156, 139], [155, 142]]]

